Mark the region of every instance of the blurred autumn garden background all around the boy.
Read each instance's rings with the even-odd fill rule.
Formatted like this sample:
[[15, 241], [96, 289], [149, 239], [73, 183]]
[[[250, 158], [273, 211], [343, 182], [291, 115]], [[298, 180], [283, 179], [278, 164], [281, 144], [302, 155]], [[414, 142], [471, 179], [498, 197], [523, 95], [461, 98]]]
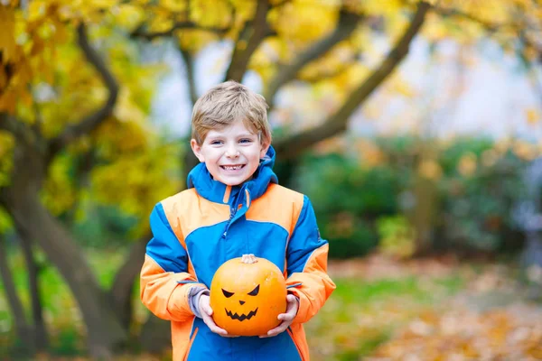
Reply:
[[227, 79], [330, 241], [314, 360], [542, 359], [538, 1], [3, 0], [0, 28], [0, 359], [171, 359], [148, 216]]

